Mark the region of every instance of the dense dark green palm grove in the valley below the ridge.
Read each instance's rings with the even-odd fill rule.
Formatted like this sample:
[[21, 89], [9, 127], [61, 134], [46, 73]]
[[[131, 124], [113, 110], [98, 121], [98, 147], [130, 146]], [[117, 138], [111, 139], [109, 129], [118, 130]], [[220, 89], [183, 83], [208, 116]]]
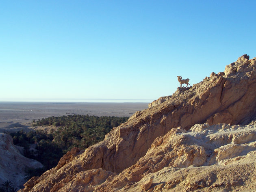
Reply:
[[[113, 127], [119, 126], [128, 117], [68, 115], [43, 118], [34, 122], [33, 126], [54, 125], [50, 133], [37, 130], [11, 133], [13, 143], [24, 147], [24, 156], [35, 159], [43, 164], [43, 168], [27, 168], [27, 178], [39, 176], [44, 171], [56, 166], [59, 159], [73, 147], [86, 149], [100, 142]], [[35, 145], [35, 150], [31, 146]]]

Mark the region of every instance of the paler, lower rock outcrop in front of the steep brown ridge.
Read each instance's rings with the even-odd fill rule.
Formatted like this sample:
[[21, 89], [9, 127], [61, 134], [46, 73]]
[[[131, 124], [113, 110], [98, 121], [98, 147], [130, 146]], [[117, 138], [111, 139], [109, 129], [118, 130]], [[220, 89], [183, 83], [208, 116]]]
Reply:
[[196, 124], [156, 138], [136, 164], [95, 191], [219, 191], [244, 185], [255, 189], [255, 165], [255, 121], [246, 126]]

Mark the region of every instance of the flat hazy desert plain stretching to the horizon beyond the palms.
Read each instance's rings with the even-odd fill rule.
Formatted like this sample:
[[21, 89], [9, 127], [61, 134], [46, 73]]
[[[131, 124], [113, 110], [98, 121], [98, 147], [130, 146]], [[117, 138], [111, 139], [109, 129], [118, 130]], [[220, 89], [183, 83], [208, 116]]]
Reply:
[[131, 116], [148, 103], [0, 102], [0, 132], [30, 130], [33, 119], [72, 114]]

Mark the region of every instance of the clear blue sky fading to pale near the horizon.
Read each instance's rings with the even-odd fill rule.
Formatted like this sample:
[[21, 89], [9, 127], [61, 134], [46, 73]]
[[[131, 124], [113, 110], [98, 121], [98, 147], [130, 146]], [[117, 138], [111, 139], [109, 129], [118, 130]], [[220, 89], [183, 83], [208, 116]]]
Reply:
[[243, 54], [256, 57], [252, 0], [0, 2], [0, 101], [172, 95]]

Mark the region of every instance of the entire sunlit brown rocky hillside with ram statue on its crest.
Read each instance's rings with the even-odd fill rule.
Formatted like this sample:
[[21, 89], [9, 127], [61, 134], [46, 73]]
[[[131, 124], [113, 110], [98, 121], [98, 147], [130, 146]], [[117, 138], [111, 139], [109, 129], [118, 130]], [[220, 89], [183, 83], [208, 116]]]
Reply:
[[255, 189], [255, 67], [256, 58], [243, 55], [224, 73], [153, 101], [21, 191]]

